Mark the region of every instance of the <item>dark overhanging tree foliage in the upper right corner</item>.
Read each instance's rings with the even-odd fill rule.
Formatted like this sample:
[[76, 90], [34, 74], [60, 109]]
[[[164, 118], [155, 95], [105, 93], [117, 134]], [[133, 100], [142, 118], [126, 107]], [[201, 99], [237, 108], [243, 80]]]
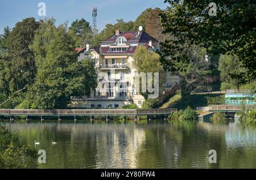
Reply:
[[[170, 3], [161, 12], [164, 33], [173, 38], [162, 43], [162, 62], [171, 67], [174, 61], [187, 63], [183, 54], [193, 44], [214, 54], [237, 55], [248, 68], [247, 79], [255, 79], [255, 3], [253, 1], [218, 1], [217, 15], [210, 16], [209, 1], [166, 0]], [[172, 57], [166, 59], [165, 57]]]

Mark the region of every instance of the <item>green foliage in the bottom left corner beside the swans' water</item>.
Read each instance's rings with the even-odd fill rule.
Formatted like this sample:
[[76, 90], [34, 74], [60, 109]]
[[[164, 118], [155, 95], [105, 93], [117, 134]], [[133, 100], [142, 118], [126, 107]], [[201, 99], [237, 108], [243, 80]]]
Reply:
[[0, 125], [0, 168], [26, 168], [26, 157], [37, 156], [35, 149], [21, 145], [17, 134], [10, 134]]

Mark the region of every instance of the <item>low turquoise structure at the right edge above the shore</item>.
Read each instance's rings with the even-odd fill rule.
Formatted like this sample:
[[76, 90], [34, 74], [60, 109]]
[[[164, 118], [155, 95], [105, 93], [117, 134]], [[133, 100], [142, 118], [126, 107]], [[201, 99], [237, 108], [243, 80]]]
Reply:
[[229, 105], [249, 105], [256, 104], [255, 91], [250, 89], [227, 89], [225, 94], [225, 104]]

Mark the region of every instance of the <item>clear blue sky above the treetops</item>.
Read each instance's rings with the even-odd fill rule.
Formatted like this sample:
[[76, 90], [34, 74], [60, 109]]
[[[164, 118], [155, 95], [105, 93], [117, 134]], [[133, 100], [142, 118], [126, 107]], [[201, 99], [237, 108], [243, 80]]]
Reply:
[[[38, 3], [46, 3], [46, 16], [38, 15]], [[3, 28], [13, 28], [24, 18], [36, 20], [55, 18], [56, 25], [84, 18], [92, 25], [92, 7], [98, 8], [97, 28], [99, 32], [105, 24], [115, 23], [116, 19], [135, 20], [146, 8], [166, 8], [164, 0], [8, 0], [0, 2], [0, 33]]]

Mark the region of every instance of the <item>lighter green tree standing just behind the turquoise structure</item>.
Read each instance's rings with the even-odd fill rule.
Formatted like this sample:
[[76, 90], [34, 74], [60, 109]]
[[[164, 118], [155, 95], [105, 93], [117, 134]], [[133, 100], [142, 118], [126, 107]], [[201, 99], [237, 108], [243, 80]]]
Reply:
[[240, 88], [246, 82], [247, 68], [236, 55], [221, 55], [218, 65], [221, 75], [221, 90]]

